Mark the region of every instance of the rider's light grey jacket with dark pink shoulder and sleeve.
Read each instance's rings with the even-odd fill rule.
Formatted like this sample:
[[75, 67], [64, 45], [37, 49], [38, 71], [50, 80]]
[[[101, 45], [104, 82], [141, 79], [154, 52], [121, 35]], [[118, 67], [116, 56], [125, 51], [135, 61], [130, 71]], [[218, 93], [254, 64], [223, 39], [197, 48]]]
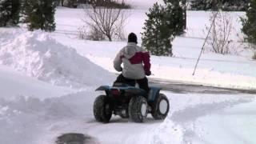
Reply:
[[150, 66], [150, 54], [134, 42], [128, 42], [114, 58], [114, 69], [122, 71], [122, 75], [130, 79], [145, 78]]

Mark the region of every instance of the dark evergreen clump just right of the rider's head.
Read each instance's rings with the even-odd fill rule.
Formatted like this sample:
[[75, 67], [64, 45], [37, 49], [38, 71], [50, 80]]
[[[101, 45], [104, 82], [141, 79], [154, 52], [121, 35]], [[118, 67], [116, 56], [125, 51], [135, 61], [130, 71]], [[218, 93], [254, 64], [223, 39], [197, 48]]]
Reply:
[[164, 3], [165, 6], [155, 3], [146, 14], [142, 46], [151, 54], [172, 56], [173, 38], [186, 29], [186, 0], [164, 0]]

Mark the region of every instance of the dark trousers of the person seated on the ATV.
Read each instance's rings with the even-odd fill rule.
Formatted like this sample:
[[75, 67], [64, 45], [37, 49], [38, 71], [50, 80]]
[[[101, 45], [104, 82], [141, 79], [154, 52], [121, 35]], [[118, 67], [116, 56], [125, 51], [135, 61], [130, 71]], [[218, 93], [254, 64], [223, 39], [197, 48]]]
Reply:
[[130, 86], [135, 86], [136, 82], [138, 83], [139, 88], [146, 91], [146, 94], [149, 93], [150, 88], [149, 88], [148, 80], [146, 77], [142, 79], [130, 79], [130, 78], [125, 78], [122, 74], [120, 74], [118, 75], [118, 78], [114, 83], [125, 83]]

